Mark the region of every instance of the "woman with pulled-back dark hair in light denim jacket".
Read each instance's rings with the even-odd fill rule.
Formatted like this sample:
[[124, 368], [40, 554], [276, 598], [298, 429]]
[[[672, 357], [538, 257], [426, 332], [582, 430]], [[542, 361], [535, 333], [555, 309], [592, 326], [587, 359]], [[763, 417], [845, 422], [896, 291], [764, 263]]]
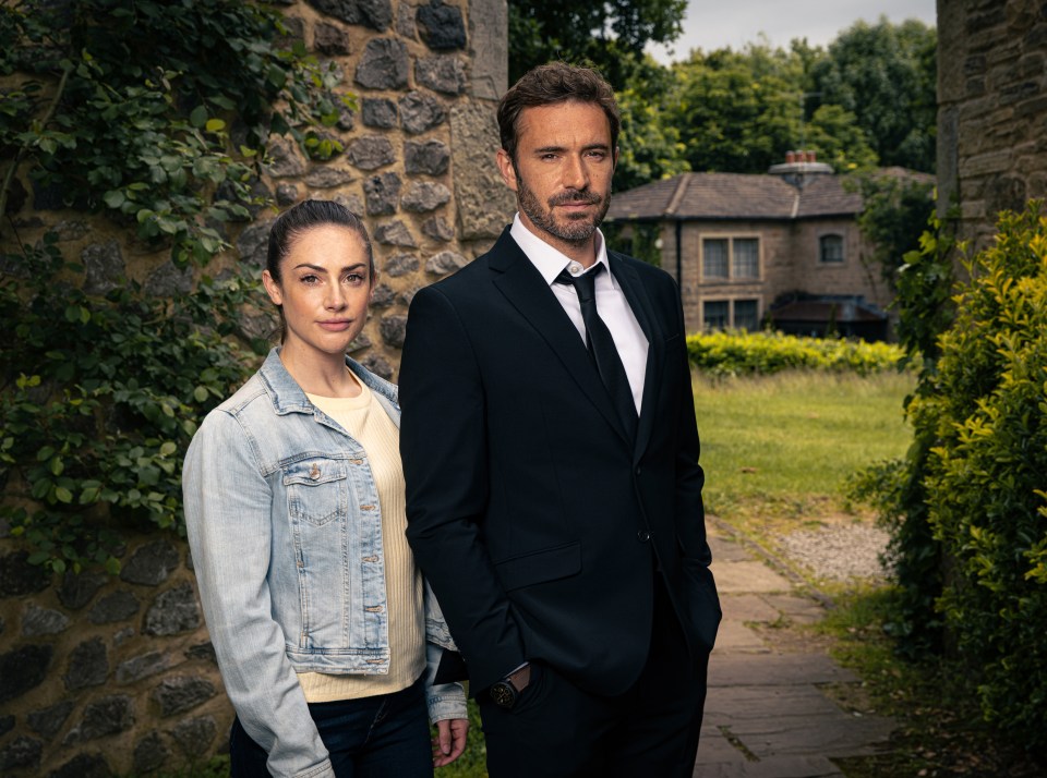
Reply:
[[346, 356], [374, 294], [366, 230], [305, 200], [274, 224], [263, 281], [281, 347], [183, 473], [232, 775], [432, 776], [465, 749], [466, 701], [433, 683], [455, 646], [404, 534], [396, 387]]

